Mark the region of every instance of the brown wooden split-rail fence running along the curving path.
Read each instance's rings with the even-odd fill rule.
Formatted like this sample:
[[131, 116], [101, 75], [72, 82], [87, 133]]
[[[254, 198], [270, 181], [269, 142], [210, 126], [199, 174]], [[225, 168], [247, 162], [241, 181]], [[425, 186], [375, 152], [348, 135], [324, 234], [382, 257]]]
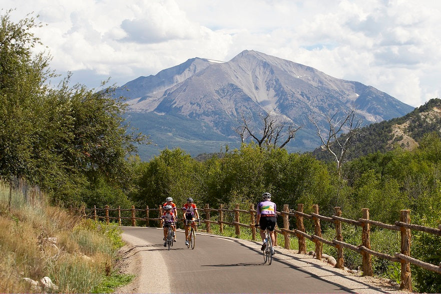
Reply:
[[[355, 251], [362, 255], [362, 270], [363, 275], [372, 276], [372, 260], [371, 256], [376, 256], [379, 258], [383, 258], [386, 260], [399, 262], [401, 264], [401, 275], [400, 275], [400, 288], [406, 290], [412, 290], [411, 285], [411, 273], [410, 273], [410, 264], [414, 264], [416, 266], [425, 268], [430, 271], [434, 271], [441, 274], [441, 262], [437, 265], [430, 264], [427, 262], [423, 262], [419, 259], [413, 258], [410, 256], [410, 244], [411, 244], [411, 230], [423, 231], [430, 234], [435, 234], [437, 236], [441, 236], [441, 225], [438, 228], [431, 228], [417, 224], [410, 223], [410, 211], [409, 210], [401, 210], [400, 211], [400, 220], [396, 221], [395, 224], [387, 224], [379, 221], [369, 219], [369, 209], [363, 208], [362, 213], [363, 217], [358, 220], [347, 219], [341, 217], [342, 211], [340, 207], [335, 207], [335, 213], [331, 216], [320, 215], [318, 211], [318, 205], [313, 205], [313, 213], [307, 214], [303, 212], [303, 204], [297, 205], [297, 210], [289, 210], [288, 204], [283, 205], [283, 211], [276, 211], [277, 215], [281, 215], [283, 217], [283, 228], [275, 229], [276, 233], [281, 233], [284, 235], [284, 247], [286, 249], [290, 249], [290, 241], [289, 237], [291, 235], [296, 236], [298, 238], [298, 253], [306, 253], [306, 242], [305, 238], [311, 240], [315, 243], [315, 256], [317, 259], [322, 258], [322, 244], [325, 243], [329, 246], [333, 246], [337, 249], [337, 258], [335, 267], [343, 268], [343, 248]], [[254, 209], [254, 205], [251, 204], [249, 210], [239, 209], [239, 204], [235, 205], [234, 209], [225, 209], [223, 205], [220, 205], [218, 209], [210, 208], [208, 204], [205, 205], [203, 209], [199, 209], [204, 212], [205, 218], [201, 219], [202, 222], [205, 223], [206, 231], [208, 233], [212, 233], [211, 224], [219, 225], [220, 233], [223, 233], [223, 226], [230, 225], [235, 226], [236, 235], [240, 235], [240, 227], [246, 227], [251, 229], [252, 238], [256, 240], [256, 228], [254, 226], [255, 223], [255, 215], [256, 210]], [[103, 215], [104, 211], [104, 215]], [[117, 212], [117, 216], [110, 216], [109, 212]], [[154, 211], [158, 217], [151, 217], [150, 212]], [[121, 212], [131, 213], [131, 216], [123, 217], [121, 216]], [[143, 212], [145, 217], [137, 217], [137, 213]], [[210, 217], [210, 212], [217, 213], [217, 220], [212, 220]], [[132, 209], [121, 209], [119, 208], [110, 208], [108, 205], [105, 208], [90, 208], [84, 209], [84, 215], [93, 218], [95, 220], [104, 219], [106, 223], [109, 223], [110, 220], [118, 220], [118, 224], [121, 225], [122, 220], [130, 220], [132, 226], [137, 225], [137, 220], [145, 221], [146, 226], [150, 226], [151, 221], [157, 221], [158, 227], [162, 227], [162, 206], [159, 208], [149, 208], [148, 206], [145, 209], [135, 209], [132, 206]], [[226, 221], [224, 216], [226, 213], [230, 213], [234, 215], [233, 221]], [[240, 223], [240, 213], [246, 213], [249, 215], [250, 222], [249, 224]], [[291, 230], [289, 228], [289, 217], [296, 218], [296, 227], [297, 229]], [[307, 234], [305, 231], [305, 226], [303, 224], [303, 219], [307, 218], [313, 222], [314, 225], [314, 234]], [[322, 237], [321, 234], [321, 226], [320, 220], [328, 221], [334, 223], [335, 225], [335, 238], [333, 240], [327, 240]], [[341, 223], [348, 223], [355, 226], [361, 226], [362, 234], [361, 234], [361, 245], [355, 246], [346, 242], [343, 242]], [[401, 235], [400, 240], [400, 252], [397, 252], [392, 255], [388, 255], [385, 253], [377, 252], [371, 249], [370, 246], [370, 225], [378, 226], [383, 229], [395, 230], [399, 231]]]

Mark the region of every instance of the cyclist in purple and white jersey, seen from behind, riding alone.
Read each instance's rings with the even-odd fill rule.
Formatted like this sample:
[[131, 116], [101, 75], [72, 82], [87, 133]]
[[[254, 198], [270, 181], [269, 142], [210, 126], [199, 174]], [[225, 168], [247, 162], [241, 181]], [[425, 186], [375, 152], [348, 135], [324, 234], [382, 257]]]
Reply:
[[[263, 244], [260, 248], [265, 250], [266, 239], [265, 239], [265, 229], [268, 229], [269, 236], [272, 243], [272, 254], [274, 254], [274, 228], [276, 226], [277, 215], [276, 215], [276, 204], [271, 202], [271, 194], [265, 192], [262, 194], [262, 201], [257, 204], [257, 218], [256, 223], [260, 226], [260, 237], [262, 238]], [[257, 226], [257, 225], [256, 225]]]

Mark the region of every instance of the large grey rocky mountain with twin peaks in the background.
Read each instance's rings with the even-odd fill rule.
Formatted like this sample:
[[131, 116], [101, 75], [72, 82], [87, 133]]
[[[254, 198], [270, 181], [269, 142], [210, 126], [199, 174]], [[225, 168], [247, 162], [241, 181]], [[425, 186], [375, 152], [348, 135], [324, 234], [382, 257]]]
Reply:
[[317, 118], [353, 105], [366, 123], [400, 117], [414, 108], [373, 87], [336, 79], [312, 67], [245, 50], [228, 62], [193, 58], [157, 75], [139, 77], [117, 89], [129, 104], [128, 120], [151, 136], [157, 146], [140, 150], [147, 159], [176, 146], [191, 155], [240, 146], [233, 127], [244, 115], [261, 128], [265, 111], [304, 125], [288, 151], [312, 151], [319, 145]]

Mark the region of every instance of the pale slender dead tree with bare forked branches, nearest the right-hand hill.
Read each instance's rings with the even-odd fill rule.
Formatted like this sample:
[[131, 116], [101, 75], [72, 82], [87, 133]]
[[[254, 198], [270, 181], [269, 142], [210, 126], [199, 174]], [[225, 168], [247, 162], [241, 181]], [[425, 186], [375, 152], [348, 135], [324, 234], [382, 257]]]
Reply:
[[[339, 113], [343, 113], [339, 116]], [[309, 120], [317, 129], [317, 136], [320, 137], [322, 150], [328, 151], [335, 158], [337, 164], [337, 174], [340, 176], [341, 165], [345, 158], [350, 145], [354, 139], [360, 134], [362, 120], [357, 119], [356, 109], [352, 107], [350, 110], [337, 111], [334, 114], [324, 115], [329, 125], [329, 130], [326, 136], [322, 135], [318, 120], [310, 116]], [[344, 136], [342, 136], [344, 134]]]

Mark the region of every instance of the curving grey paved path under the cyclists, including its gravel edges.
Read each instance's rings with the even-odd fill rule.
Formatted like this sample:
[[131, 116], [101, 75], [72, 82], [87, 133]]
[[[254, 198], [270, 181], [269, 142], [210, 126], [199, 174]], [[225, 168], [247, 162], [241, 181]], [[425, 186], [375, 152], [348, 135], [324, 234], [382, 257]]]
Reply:
[[[162, 229], [122, 228], [126, 239], [135, 238], [138, 243], [145, 242], [144, 245], [136, 245], [138, 250], [148, 251], [150, 256], [156, 256], [155, 261], [150, 260], [149, 264], [140, 265], [140, 268], [150, 267], [145, 270], [150, 275], [141, 278], [161, 280], [158, 273], [163, 278], [160, 282], [162, 287], [153, 287], [153, 290], [134, 288], [133, 291], [136, 292], [391, 292], [391, 289], [382, 290], [352, 280], [351, 277], [347, 278], [344, 274], [336, 273], [332, 267], [317, 264], [322, 261], [299, 254], [308, 258], [304, 262], [302, 258], [283, 253], [284, 249], [276, 249], [278, 253], [274, 255], [272, 264], [268, 265], [263, 263], [263, 255], [257, 242], [197, 233], [196, 246], [192, 250], [184, 244], [184, 232], [178, 230], [178, 241], [169, 251], [163, 246]], [[346, 281], [339, 282], [340, 279]]]

